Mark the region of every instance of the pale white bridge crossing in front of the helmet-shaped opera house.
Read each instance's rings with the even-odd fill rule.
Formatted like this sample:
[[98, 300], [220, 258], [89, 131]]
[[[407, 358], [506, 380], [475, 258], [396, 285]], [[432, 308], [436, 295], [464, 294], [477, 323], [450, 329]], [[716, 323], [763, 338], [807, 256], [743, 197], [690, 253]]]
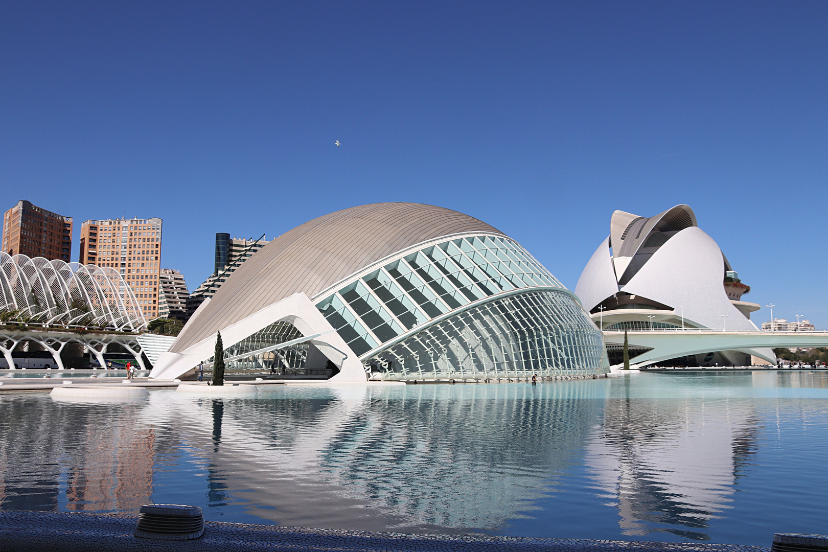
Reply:
[[[624, 330], [604, 330], [604, 342], [623, 345]], [[692, 354], [777, 347], [828, 347], [828, 332], [721, 329], [628, 329], [630, 348], [650, 349], [630, 358], [638, 367]]]

